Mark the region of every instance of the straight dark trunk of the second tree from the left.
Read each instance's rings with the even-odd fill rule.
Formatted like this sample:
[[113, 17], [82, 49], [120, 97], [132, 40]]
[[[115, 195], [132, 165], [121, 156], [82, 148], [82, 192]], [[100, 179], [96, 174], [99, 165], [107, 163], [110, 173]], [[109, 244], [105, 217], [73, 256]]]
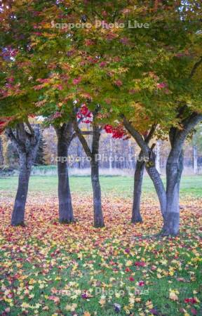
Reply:
[[72, 196], [69, 187], [68, 149], [72, 141], [72, 123], [55, 128], [58, 136], [58, 199], [59, 220], [61, 223], [73, 223]]

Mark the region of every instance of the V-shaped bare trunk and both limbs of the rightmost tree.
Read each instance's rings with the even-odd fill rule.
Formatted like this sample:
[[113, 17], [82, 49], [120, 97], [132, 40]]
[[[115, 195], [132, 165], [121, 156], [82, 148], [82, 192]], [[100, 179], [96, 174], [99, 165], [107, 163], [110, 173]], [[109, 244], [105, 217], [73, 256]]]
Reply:
[[[179, 118], [187, 107], [183, 107], [179, 112]], [[202, 120], [202, 114], [193, 112], [189, 117], [182, 120], [182, 129], [170, 129], [170, 145], [171, 150], [166, 165], [166, 190], [164, 188], [161, 176], [156, 169], [156, 157], [153, 147], [149, 147], [143, 136], [130, 124], [130, 121], [123, 117], [123, 124], [128, 132], [137, 141], [142, 153], [147, 157], [149, 162], [146, 164], [147, 172], [154, 183], [156, 193], [161, 204], [161, 213], [163, 216], [163, 229], [161, 235], [176, 236], [180, 231], [180, 180], [183, 171], [183, 150], [184, 141], [189, 133], [194, 129], [194, 126]]]

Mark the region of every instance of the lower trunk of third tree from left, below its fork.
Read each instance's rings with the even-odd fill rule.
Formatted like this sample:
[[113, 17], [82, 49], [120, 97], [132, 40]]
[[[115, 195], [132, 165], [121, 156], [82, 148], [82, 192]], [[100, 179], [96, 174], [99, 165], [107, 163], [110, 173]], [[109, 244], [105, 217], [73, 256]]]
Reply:
[[102, 228], [105, 224], [102, 214], [99, 162], [96, 162], [94, 159], [91, 162], [91, 182], [93, 187], [94, 226], [96, 228]]

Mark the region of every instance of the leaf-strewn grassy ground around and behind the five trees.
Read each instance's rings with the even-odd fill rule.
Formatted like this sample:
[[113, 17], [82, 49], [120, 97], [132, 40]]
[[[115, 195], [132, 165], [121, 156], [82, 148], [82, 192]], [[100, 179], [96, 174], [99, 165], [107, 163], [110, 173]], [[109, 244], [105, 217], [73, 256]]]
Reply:
[[90, 178], [72, 178], [76, 223], [58, 223], [57, 179], [33, 177], [25, 228], [9, 225], [17, 178], [0, 179], [0, 315], [202, 315], [202, 177], [182, 182], [180, 236], [144, 181], [144, 223], [130, 224], [133, 178], [101, 178], [105, 228]]

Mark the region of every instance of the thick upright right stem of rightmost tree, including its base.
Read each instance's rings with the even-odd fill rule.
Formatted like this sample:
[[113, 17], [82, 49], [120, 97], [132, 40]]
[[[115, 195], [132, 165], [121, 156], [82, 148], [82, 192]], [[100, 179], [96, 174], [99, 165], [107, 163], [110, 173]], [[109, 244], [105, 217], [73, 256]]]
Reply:
[[163, 230], [161, 235], [163, 236], [176, 236], [180, 231], [180, 180], [182, 178], [183, 171], [183, 151], [180, 157], [176, 159], [171, 154], [168, 157], [168, 162], [166, 166], [166, 176], [167, 176], [167, 206], [166, 214], [163, 218]]

